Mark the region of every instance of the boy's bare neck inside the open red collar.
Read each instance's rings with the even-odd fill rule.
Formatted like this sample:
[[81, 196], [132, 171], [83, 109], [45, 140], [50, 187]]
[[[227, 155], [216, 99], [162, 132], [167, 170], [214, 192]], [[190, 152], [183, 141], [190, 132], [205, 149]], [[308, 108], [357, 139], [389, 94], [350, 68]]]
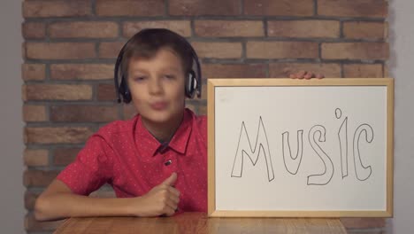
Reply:
[[180, 127], [181, 121], [183, 119], [184, 112], [177, 116], [173, 120], [159, 123], [152, 122], [142, 118], [142, 124], [149, 131], [149, 133], [154, 136], [158, 142], [165, 143], [169, 142], [175, 131]]

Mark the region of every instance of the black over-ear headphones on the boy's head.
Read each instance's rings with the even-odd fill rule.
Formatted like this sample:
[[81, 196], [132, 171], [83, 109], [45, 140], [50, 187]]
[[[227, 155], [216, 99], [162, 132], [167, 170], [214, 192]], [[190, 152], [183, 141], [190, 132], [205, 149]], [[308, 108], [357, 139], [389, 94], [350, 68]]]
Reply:
[[[202, 90], [202, 75], [201, 75], [201, 66], [200, 61], [198, 60], [198, 56], [196, 54], [196, 51], [191, 46], [188, 41], [182, 37], [181, 35], [178, 35], [174, 33], [173, 31], [170, 31], [165, 28], [146, 28], [142, 29], [139, 33], [134, 35], [132, 38], [134, 38], [137, 35], [142, 35], [143, 33], [159, 33], [159, 32], [167, 32], [177, 37], [182, 43], [185, 44], [186, 49], [191, 52], [191, 56], [193, 59], [193, 66], [196, 64], [196, 72], [191, 67], [188, 74], [186, 75], [186, 83], [185, 83], [185, 90], [186, 90], [186, 97], [187, 98], [194, 98], [195, 94], [197, 93], [197, 98], [201, 97], [201, 90]], [[128, 83], [126, 81], [125, 75], [122, 73], [122, 58], [124, 57], [124, 52], [126, 48], [126, 44], [129, 43], [131, 40], [129, 39], [122, 49], [119, 51], [119, 55], [117, 58], [117, 62], [115, 63], [115, 70], [114, 70], [114, 82], [115, 82], [115, 90], [116, 95], [118, 97], [118, 102], [120, 103], [123, 101], [124, 103], [130, 103], [132, 100], [131, 92], [128, 88]], [[120, 76], [120, 82], [119, 82], [119, 76]], [[122, 97], [122, 98], [121, 98]]]

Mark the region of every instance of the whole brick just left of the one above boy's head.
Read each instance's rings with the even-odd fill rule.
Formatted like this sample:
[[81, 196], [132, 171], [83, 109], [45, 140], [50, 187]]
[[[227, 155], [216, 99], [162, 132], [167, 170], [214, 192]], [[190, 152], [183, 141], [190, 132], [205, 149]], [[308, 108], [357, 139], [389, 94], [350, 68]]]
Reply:
[[57, 22], [48, 27], [51, 38], [113, 38], [118, 36], [118, 24], [99, 22]]

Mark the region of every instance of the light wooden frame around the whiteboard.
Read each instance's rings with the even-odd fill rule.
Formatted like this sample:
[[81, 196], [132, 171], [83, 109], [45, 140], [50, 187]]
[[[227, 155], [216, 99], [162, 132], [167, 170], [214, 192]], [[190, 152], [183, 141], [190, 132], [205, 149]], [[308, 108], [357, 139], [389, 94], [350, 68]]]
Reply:
[[[217, 210], [215, 189], [215, 88], [243, 86], [386, 86], [387, 87], [387, 208], [383, 211], [239, 211]], [[208, 113], [208, 215], [209, 217], [392, 217], [394, 180], [394, 79], [325, 78], [311, 80], [280, 78], [216, 78], [207, 81]]]

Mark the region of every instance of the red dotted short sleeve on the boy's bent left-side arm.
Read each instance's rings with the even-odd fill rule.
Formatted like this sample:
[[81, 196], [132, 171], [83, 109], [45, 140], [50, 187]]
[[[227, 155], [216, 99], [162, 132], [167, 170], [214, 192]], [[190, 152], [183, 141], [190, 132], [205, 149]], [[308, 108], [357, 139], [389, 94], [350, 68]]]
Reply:
[[88, 139], [76, 160], [69, 164], [57, 178], [65, 183], [73, 193], [89, 195], [111, 180], [111, 177], [111, 147], [102, 136], [94, 135]]

